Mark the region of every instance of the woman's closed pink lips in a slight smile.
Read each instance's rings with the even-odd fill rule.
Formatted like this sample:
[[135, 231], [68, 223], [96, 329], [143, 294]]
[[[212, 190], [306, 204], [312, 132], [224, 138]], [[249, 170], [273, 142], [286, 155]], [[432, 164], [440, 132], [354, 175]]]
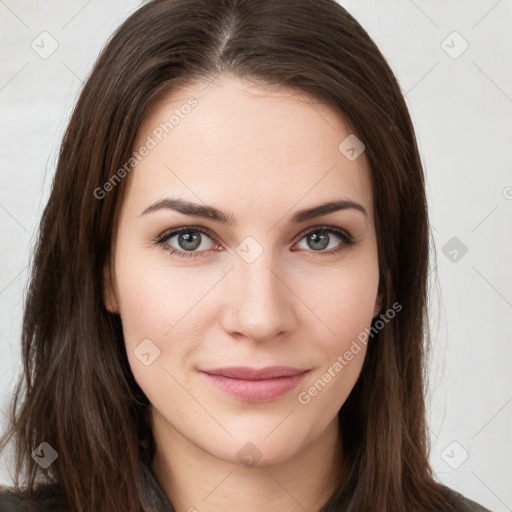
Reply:
[[268, 402], [295, 389], [309, 369], [273, 366], [200, 370], [217, 389], [245, 402]]

